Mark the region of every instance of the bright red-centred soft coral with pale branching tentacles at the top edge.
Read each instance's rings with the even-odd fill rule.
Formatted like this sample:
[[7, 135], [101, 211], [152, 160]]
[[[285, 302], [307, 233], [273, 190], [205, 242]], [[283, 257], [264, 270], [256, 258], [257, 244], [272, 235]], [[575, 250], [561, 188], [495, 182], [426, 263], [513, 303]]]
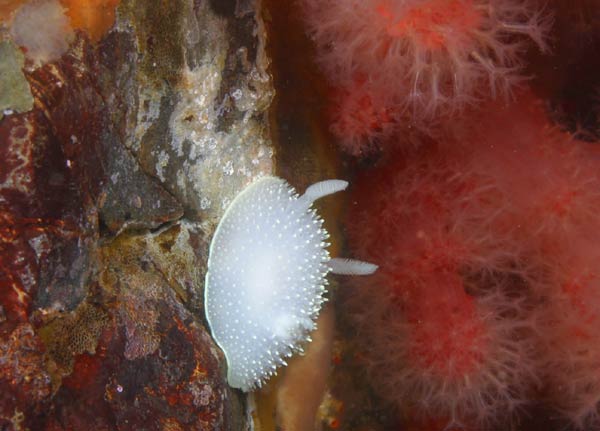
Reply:
[[508, 94], [526, 39], [546, 49], [549, 19], [527, 1], [298, 1], [331, 81], [352, 88], [363, 76], [376, 112], [419, 124]]

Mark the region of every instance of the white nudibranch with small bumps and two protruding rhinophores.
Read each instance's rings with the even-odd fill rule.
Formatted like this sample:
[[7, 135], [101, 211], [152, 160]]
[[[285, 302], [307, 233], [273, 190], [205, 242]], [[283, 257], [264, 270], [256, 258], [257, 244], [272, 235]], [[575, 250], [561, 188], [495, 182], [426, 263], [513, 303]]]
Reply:
[[328, 180], [302, 196], [263, 177], [229, 205], [210, 244], [204, 290], [213, 338], [227, 359], [229, 385], [250, 391], [285, 358], [302, 352], [325, 301], [329, 272], [366, 275], [376, 265], [329, 256], [329, 234], [312, 203], [344, 190]]

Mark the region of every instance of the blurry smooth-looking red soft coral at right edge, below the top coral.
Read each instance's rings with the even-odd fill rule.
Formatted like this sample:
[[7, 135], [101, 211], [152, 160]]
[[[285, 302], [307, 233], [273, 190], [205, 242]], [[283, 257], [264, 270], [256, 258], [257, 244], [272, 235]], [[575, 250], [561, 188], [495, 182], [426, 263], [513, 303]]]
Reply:
[[600, 229], [600, 163], [592, 144], [576, 140], [547, 118], [531, 92], [511, 104], [489, 103], [475, 125], [456, 134], [469, 169], [495, 178], [510, 196], [506, 225], [546, 256], [570, 238]]

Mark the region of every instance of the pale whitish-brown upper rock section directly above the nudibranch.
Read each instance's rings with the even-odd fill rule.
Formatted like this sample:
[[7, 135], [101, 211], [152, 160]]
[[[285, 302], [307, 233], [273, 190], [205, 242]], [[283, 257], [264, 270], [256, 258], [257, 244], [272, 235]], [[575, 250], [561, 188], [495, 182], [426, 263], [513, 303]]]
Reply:
[[125, 148], [193, 220], [216, 222], [243, 186], [272, 169], [265, 113], [273, 90], [254, 8], [123, 2], [119, 30], [101, 48]]

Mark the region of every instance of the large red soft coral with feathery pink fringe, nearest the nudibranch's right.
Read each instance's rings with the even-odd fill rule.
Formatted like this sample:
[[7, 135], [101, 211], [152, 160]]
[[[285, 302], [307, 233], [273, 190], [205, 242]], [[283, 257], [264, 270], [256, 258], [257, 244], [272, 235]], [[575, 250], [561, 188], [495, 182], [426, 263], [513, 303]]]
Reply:
[[386, 400], [476, 429], [511, 415], [537, 381], [526, 270], [493, 178], [433, 151], [357, 181], [348, 235], [378, 261], [344, 301]]

